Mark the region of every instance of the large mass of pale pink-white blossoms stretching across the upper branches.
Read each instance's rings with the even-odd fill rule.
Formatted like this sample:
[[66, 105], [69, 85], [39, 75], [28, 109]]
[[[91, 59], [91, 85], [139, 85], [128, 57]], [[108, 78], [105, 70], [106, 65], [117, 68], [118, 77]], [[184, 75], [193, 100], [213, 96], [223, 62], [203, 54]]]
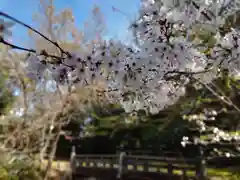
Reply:
[[[224, 23], [218, 9], [214, 9], [219, 4], [188, 0], [173, 6], [169, 2], [142, 0], [140, 17], [131, 25], [139, 42], [137, 48], [111, 40], [51, 60], [46, 52], [41, 56], [31, 54], [26, 61], [28, 77], [41, 80], [49, 73], [62, 85], [87, 86], [103, 81], [109, 99], [121, 102], [126, 111], [147, 109], [157, 113], [184, 95], [184, 87], [193, 76], [209, 82], [222, 65], [238, 72], [237, 30], [225, 37], [216, 36], [210, 54], [190, 38], [193, 27], [199, 24], [219, 35]], [[179, 75], [179, 79], [169, 81], [172, 74]]]

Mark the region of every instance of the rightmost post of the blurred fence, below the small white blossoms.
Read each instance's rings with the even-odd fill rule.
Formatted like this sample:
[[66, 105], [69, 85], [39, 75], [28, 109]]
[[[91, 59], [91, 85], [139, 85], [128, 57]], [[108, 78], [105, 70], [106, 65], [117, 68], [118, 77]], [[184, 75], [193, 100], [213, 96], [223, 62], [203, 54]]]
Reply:
[[200, 152], [200, 156], [197, 164], [196, 178], [198, 180], [207, 180], [206, 160], [204, 158], [203, 150], [200, 145], [199, 145], [199, 152]]

